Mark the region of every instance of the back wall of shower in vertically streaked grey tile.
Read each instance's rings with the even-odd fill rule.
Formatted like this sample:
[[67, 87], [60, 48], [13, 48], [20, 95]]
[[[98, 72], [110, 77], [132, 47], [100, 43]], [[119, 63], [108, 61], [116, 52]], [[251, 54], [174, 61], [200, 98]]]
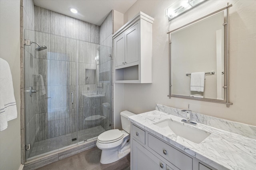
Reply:
[[[37, 63], [39, 63], [38, 75], [42, 75], [43, 79], [46, 80], [47, 72], [50, 72], [50, 79], [48, 75], [49, 82], [44, 84], [45, 89], [48, 87], [48, 96], [46, 97], [51, 97], [48, 99], [50, 102], [42, 100], [44, 104], [41, 103], [40, 107], [44, 108], [41, 108], [38, 112], [39, 122], [48, 120], [48, 125], [40, 124], [39, 128], [42, 130], [39, 130], [39, 132], [42, 132], [43, 129], [46, 129], [45, 126], [48, 126], [48, 133], [46, 131], [45, 133], [37, 133], [36, 140], [40, 141], [76, 131], [77, 50], [78, 130], [89, 128], [84, 125], [84, 119], [92, 114], [99, 114], [100, 104], [90, 101], [84, 102], [82, 92], [96, 91], [94, 83], [86, 85], [85, 70], [96, 70], [95, 57], [99, 48], [97, 44], [100, 42], [100, 27], [35, 6], [35, 30], [43, 32], [37, 32], [36, 41], [48, 47], [45, 54], [36, 56], [36, 58], [38, 59]], [[74, 94], [73, 104], [71, 104], [71, 92]], [[58, 95], [52, 95], [54, 93]]]

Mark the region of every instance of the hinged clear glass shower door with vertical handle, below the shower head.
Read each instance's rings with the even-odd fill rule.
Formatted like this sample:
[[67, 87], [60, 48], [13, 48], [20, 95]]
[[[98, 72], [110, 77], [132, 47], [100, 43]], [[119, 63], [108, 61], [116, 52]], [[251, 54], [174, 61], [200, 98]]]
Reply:
[[77, 41], [25, 30], [26, 158], [77, 143]]

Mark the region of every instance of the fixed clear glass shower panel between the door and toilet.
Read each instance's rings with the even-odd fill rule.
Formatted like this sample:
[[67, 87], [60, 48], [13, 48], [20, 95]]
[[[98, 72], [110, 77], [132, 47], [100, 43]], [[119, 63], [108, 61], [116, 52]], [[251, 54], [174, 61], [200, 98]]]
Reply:
[[85, 41], [78, 47], [78, 142], [83, 142], [112, 127], [111, 47]]

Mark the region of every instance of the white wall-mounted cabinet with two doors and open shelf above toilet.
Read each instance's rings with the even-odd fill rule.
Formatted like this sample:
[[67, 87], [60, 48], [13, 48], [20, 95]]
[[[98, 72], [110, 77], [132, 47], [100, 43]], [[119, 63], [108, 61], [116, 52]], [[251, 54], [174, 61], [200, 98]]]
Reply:
[[140, 12], [114, 33], [114, 83], [152, 83], [153, 21]]

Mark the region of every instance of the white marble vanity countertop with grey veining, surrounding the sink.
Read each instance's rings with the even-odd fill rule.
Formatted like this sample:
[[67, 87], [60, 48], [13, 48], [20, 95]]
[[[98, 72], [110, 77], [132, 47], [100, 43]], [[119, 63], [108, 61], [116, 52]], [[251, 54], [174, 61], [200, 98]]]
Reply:
[[204, 141], [197, 144], [154, 125], [155, 122], [164, 119], [181, 122], [182, 117], [154, 110], [130, 116], [128, 119], [218, 170], [255, 170], [256, 168], [255, 139], [198, 123], [195, 126], [196, 128], [208, 131], [211, 134]]

